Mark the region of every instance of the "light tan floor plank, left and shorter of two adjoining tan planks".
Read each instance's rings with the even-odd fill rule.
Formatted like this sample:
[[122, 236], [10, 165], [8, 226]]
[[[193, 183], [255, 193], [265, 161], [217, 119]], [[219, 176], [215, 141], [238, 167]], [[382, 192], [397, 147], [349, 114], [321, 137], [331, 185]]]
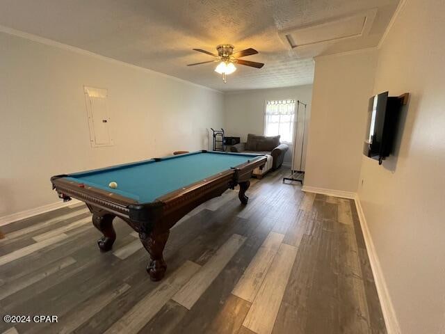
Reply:
[[250, 303], [253, 302], [283, 238], [284, 234], [270, 232], [232, 294]]

